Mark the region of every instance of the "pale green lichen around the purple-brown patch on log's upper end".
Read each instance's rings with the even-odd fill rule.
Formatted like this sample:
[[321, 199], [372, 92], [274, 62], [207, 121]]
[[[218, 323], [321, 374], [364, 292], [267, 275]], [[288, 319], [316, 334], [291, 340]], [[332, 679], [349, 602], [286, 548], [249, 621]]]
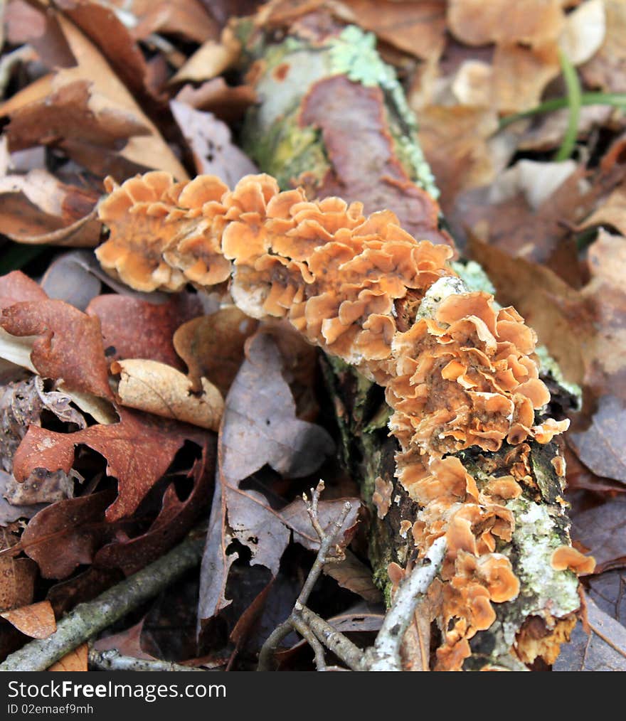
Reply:
[[[239, 29], [244, 63], [259, 63], [256, 81], [260, 104], [247, 115], [242, 132], [244, 150], [283, 189], [303, 174], [321, 182], [330, 164], [319, 131], [299, 124], [301, 105], [318, 81], [345, 75], [364, 87], [379, 87], [394, 153], [413, 182], [433, 198], [439, 191], [417, 139], [418, 124], [407, 104], [394, 69], [376, 51], [376, 38], [355, 25], [322, 43], [288, 35], [281, 43], [265, 42], [263, 35]], [[281, 67], [285, 73], [281, 73]]]

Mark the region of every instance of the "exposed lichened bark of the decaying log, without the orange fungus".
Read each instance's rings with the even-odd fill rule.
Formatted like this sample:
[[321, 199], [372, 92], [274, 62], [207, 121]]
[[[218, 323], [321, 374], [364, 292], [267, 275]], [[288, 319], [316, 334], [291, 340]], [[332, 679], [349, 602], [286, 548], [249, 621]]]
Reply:
[[[247, 68], [260, 97], [260, 105], [247, 116], [243, 142], [260, 169], [274, 174], [281, 187], [304, 185], [311, 197], [337, 194], [346, 200], [364, 200], [369, 211], [390, 207], [418, 238], [437, 240], [433, 233], [436, 217], [436, 229], [444, 236], [439, 242], [448, 242], [441, 216], [433, 216], [431, 206], [425, 209], [417, 200], [413, 202], [413, 186], [427, 190], [434, 198], [438, 190], [416, 137], [415, 116], [407, 107], [394, 71], [374, 50], [374, 37], [354, 26], [343, 27], [338, 19], [319, 12], [292, 20], [288, 32], [280, 20], [276, 25], [270, 31], [252, 23], [239, 25]], [[282, 40], [277, 42], [277, 36]], [[317, 118], [312, 117], [310, 106], [325, 84], [332, 87], [334, 102], [330, 112], [327, 105], [318, 105]], [[364, 97], [376, 97], [379, 105], [374, 112], [374, 102], [366, 105], [360, 100]], [[359, 102], [363, 107], [355, 109]], [[368, 117], [368, 112], [373, 117]], [[381, 148], [386, 142], [389, 156], [382, 158], [385, 151]], [[376, 177], [370, 168], [364, 177], [359, 175], [372, 156], [374, 167], [380, 171], [379, 185], [389, 184], [384, 169], [391, 164], [400, 165], [413, 184], [401, 200], [393, 198], [395, 207], [383, 192], [387, 203], [368, 208], [368, 198], [375, 203], [375, 188], [358, 195]], [[427, 222], [433, 225], [425, 233]], [[482, 288], [485, 278], [472, 265], [466, 272], [462, 265], [456, 269], [472, 289]], [[387, 430], [389, 407], [382, 390], [332, 355], [324, 356], [323, 365], [335, 402], [344, 461], [359, 480], [363, 500], [371, 510], [369, 555], [374, 579], [389, 603], [389, 565], [397, 563], [404, 568], [415, 556], [410, 531], [407, 534], [401, 529], [405, 521], [413, 524], [418, 505], [394, 477], [397, 441]], [[565, 389], [552, 376], [547, 378], [552, 381], [553, 399], [558, 402], [561, 397], [566, 405], [570, 386]], [[506, 468], [503, 459], [510, 450], [507, 444], [495, 453], [468, 449], [459, 458], [476, 478], [486, 480]], [[519, 660], [532, 663], [537, 656], [552, 663], [580, 611], [573, 575], [559, 575], [550, 565], [552, 550], [570, 542], [570, 522], [562, 495], [565, 464], [557, 441], [544, 446], [529, 443], [527, 466], [524, 495], [507, 504], [515, 517], [513, 539], [499, 549], [511, 558], [513, 570], [521, 579], [521, 591], [513, 601], [497, 604], [497, 621], [473, 637], [472, 655], [464, 660], [465, 669], [485, 665], [520, 668]], [[372, 502], [376, 485], [390, 489], [391, 503], [383, 518]]]

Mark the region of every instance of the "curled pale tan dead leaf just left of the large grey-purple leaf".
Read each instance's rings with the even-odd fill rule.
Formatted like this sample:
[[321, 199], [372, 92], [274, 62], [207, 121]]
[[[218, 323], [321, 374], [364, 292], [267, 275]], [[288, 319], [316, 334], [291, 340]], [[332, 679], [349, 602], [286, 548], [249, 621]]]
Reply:
[[144, 358], [113, 361], [111, 372], [120, 375], [118, 397], [122, 405], [217, 430], [224, 398], [206, 378], [202, 392], [192, 394], [191, 381], [172, 366]]

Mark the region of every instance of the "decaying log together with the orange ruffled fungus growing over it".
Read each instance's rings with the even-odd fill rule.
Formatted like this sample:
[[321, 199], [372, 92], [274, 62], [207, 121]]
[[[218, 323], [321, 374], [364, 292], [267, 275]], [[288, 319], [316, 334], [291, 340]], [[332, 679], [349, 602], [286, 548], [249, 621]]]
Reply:
[[163, 173], [110, 184], [98, 257], [141, 290], [229, 280], [242, 310], [285, 317], [325, 350], [387, 602], [445, 535], [422, 609], [436, 668], [552, 663], [581, 611], [575, 571], [592, 561], [570, 547], [552, 441], [567, 422], [552, 417], [534, 333], [449, 265], [415, 120], [371, 37], [324, 13], [237, 32], [260, 97], [247, 148], [301, 190], [268, 176], [232, 192]]

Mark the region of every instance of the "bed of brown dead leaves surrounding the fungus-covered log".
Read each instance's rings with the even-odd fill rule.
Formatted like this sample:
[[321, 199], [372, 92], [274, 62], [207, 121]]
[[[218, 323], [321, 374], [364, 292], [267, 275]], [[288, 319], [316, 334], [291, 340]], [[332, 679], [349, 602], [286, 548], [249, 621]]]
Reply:
[[[92, 252], [107, 174], [255, 171], [237, 146], [255, 92], [222, 31], [258, 5], [0, 2], [0, 658], [203, 524], [203, 572], [96, 647], [253, 668], [314, 558], [299, 499], [320, 476], [322, 519], [353, 513], [310, 603], [363, 644], [381, 622], [314, 350], [191, 289], [128, 291]], [[568, 500], [598, 564], [591, 633], [555, 668], [626, 670], [626, 0], [333, 6], [397, 68], [462, 252], [583, 388]], [[281, 668], [311, 668], [288, 641]]]

